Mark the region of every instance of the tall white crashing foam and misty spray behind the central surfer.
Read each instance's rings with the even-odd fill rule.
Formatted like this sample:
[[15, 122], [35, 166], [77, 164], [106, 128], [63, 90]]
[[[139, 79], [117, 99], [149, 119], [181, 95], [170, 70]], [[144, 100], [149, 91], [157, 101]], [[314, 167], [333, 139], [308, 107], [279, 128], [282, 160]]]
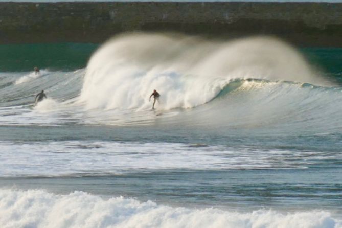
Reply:
[[90, 59], [80, 102], [88, 109], [191, 108], [212, 100], [233, 79], [327, 84], [302, 55], [276, 38], [207, 41], [197, 37], [128, 34], [105, 43]]

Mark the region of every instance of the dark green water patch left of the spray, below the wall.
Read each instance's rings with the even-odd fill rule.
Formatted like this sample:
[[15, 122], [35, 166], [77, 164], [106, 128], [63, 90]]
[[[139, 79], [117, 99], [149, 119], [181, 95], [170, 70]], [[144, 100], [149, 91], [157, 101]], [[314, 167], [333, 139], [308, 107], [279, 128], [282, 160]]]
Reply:
[[93, 43], [0, 45], [0, 72], [33, 71], [34, 66], [53, 71], [81, 69], [98, 46]]

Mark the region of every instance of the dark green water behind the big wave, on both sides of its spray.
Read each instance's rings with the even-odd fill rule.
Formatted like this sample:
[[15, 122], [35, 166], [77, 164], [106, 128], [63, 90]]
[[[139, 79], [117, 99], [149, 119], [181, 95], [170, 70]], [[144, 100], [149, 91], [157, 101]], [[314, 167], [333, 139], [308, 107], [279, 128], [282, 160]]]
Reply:
[[[90, 56], [100, 47], [95, 43], [37, 43], [0, 45], [0, 72], [59, 71], [86, 67]], [[303, 48], [300, 50], [317, 70], [342, 81], [342, 48]]]

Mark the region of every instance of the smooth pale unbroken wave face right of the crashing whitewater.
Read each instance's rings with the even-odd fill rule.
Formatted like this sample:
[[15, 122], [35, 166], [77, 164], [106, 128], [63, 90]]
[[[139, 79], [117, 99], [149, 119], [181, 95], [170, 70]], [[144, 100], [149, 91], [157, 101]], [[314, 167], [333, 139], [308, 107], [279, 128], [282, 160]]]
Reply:
[[340, 132], [341, 92], [340, 87], [309, 83], [234, 80], [214, 100], [193, 111], [196, 116], [193, 124], [264, 129], [268, 134]]

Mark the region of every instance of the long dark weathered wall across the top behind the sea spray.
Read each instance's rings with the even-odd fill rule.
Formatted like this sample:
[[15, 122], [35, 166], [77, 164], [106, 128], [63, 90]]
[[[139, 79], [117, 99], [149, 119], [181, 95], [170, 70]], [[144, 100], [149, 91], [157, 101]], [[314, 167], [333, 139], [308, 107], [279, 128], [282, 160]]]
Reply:
[[342, 3], [0, 3], [0, 43], [103, 42], [125, 31], [342, 47]]

